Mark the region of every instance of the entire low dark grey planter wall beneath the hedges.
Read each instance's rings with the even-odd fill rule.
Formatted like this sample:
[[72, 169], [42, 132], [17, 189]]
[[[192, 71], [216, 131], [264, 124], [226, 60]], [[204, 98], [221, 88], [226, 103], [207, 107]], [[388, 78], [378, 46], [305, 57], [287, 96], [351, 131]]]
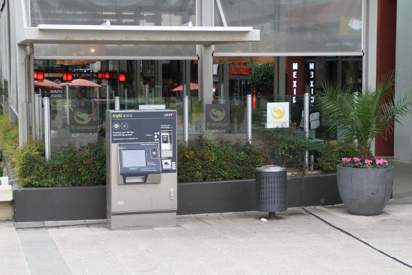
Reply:
[[[255, 180], [177, 184], [177, 215], [255, 211]], [[106, 186], [17, 188], [15, 222], [100, 220]], [[287, 207], [341, 204], [335, 174], [287, 179]]]

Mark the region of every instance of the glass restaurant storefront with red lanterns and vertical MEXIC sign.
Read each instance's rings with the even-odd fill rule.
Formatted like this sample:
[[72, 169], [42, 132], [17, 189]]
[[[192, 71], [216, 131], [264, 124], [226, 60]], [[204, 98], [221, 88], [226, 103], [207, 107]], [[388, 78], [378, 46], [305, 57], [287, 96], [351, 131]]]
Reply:
[[[300, 102], [305, 92], [314, 98], [316, 89], [321, 89], [326, 80], [349, 85], [354, 90], [367, 85], [375, 87], [379, 78], [395, 69], [396, 39], [405, 39], [402, 37], [407, 34], [399, 33], [402, 25], [398, 24], [397, 35], [391, 39], [388, 35], [395, 33], [397, 21], [409, 24], [402, 20], [406, 17], [404, 10], [411, 9], [405, 0], [2, 2], [0, 74], [9, 91], [8, 97], [2, 98], [2, 105], [12, 120], [26, 124], [20, 127], [23, 144], [30, 133], [35, 136], [30, 116], [34, 112], [33, 95], [48, 92], [52, 151], [70, 142], [84, 145], [97, 141], [104, 132], [103, 114], [105, 109], [114, 107], [114, 96], [120, 97], [120, 109], [135, 109], [146, 104], [164, 104], [177, 109], [179, 139], [183, 136], [183, 96], [190, 97], [191, 138], [212, 134], [244, 139], [247, 94], [256, 96], [256, 110], [262, 111], [262, 114], [255, 112], [253, 133], [261, 132], [265, 103], [273, 100], [291, 103], [294, 109], [291, 130], [296, 130], [301, 123]], [[15, 18], [24, 19], [15, 21]], [[253, 27], [260, 30], [260, 41], [240, 42], [238, 39], [240, 43], [220, 44], [211, 39], [197, 44], [194, 38], [190, 43], [159, 40], [147, 44], [120, 40], [94, 43], [89, 39], [67, 43], [71, 39], [69, 30], [60, 29], [54, 42], [52, 39], [41, 43], [30, 40], [33, 55], [30, 47], [27, 53], [26, 48], [24, 53], [19, 53], [21, 46], [17, 46], [24, 28], [39, 28], [42, 24], [47, 24], [48, 28], [57, 24], [71, 25], [71, 28], [100, 24], [108, 28], [110, 25], [156, 28], [184, 26], [189, 25], [188, 22], [193, 22], [193, 26], [223, 29]], [[48, 30], [40, 33], [42, 31]], [[96, 32], [83, 31], [85, 36]], [[405, 42], [398, 45], [401, 51], [397, 54], [401, 57], [396, 57], [396, 64], [404, 61], [402, 52], [411, 49]], [[28, 69], [25, 74], [20, 70], [19, 61], [30, 68], [29, 60], [33, 60], [33, 71]], [[262, 64], [273, 71], [270, 85], [263, 92], [256, 91], [253, 76], [254, 69]], [[399, 69], [403, 72], [404, 66], [397, 67], [397, 71]], [[57, 84], [66, 82], [64, 73], [71, 73], [73, 79], [89, 80], [100, 87], [73, 86], [68, 92], [33, 87], [31, 91], [30, 85], [25, 83], [32, 82], [34, 72], [44, 73], [44, 78]], [[21, 78], [26, 81], [21, 82]], [[404, 83], [403, 87], [407, 88], [408, 83], [410, 87], [407, 72], [397, 74], [397, 78]], [[22, 92], [23, 85], [26, 91]], [[396, 93], [397, 90], [395, 96]], [[206, 104], [213, 103], [228, 106], [231, 113], [228, 127], [211, 129], [205, 126]], [[73, 125], [76, 112], [91, 118], [88, 123], [93, 124], [93, 131], [76, 132]], [[22, 123], [25, 119], [26, 123]], [[408, 119], [405, 121], [408, 127], [395, 128], [395, 140], [402, 139], [402, 144], [412, 148], [412, 141], [407, 139], [411, 136], [411, 118]], [[311, 133], [313, 138], [339, 139], [339, 131], [329, 133], [323, 126], [321, 123], [321, 127]], [[266, 142], [259, 134], [255, 140]], [[377, 139], [373, 148], [377, 155], [412, 160], [412, 149], [404, 154], [396, 149], [396, 143], [391, 143], [391, 138], [388, 140]]]

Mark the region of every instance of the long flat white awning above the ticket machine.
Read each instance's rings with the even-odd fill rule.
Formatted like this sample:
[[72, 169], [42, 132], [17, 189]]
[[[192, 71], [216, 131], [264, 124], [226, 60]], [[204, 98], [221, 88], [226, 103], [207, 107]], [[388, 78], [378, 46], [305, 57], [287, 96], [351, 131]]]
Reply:
[[49, 25], [24, 28], [17, 44], [227, 44], [258, 42], [252, 27]]

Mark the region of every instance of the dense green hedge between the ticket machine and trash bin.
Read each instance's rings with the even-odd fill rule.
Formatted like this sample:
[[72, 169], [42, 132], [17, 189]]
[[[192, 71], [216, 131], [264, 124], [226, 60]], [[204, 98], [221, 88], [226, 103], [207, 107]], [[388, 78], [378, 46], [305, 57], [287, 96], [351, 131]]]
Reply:
[[255, 168], [267, 162], [265, 151], [249, 144], [211, 140], [179, 143], [177, 179], [179, 182], [251, 179]]

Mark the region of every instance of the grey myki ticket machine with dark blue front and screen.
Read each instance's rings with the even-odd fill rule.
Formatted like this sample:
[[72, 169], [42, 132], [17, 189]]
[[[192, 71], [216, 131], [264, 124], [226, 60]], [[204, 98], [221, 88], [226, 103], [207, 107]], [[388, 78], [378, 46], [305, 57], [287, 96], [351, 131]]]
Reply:
[[106, 111], [111, 229], [176, 225], [175, 110]]

